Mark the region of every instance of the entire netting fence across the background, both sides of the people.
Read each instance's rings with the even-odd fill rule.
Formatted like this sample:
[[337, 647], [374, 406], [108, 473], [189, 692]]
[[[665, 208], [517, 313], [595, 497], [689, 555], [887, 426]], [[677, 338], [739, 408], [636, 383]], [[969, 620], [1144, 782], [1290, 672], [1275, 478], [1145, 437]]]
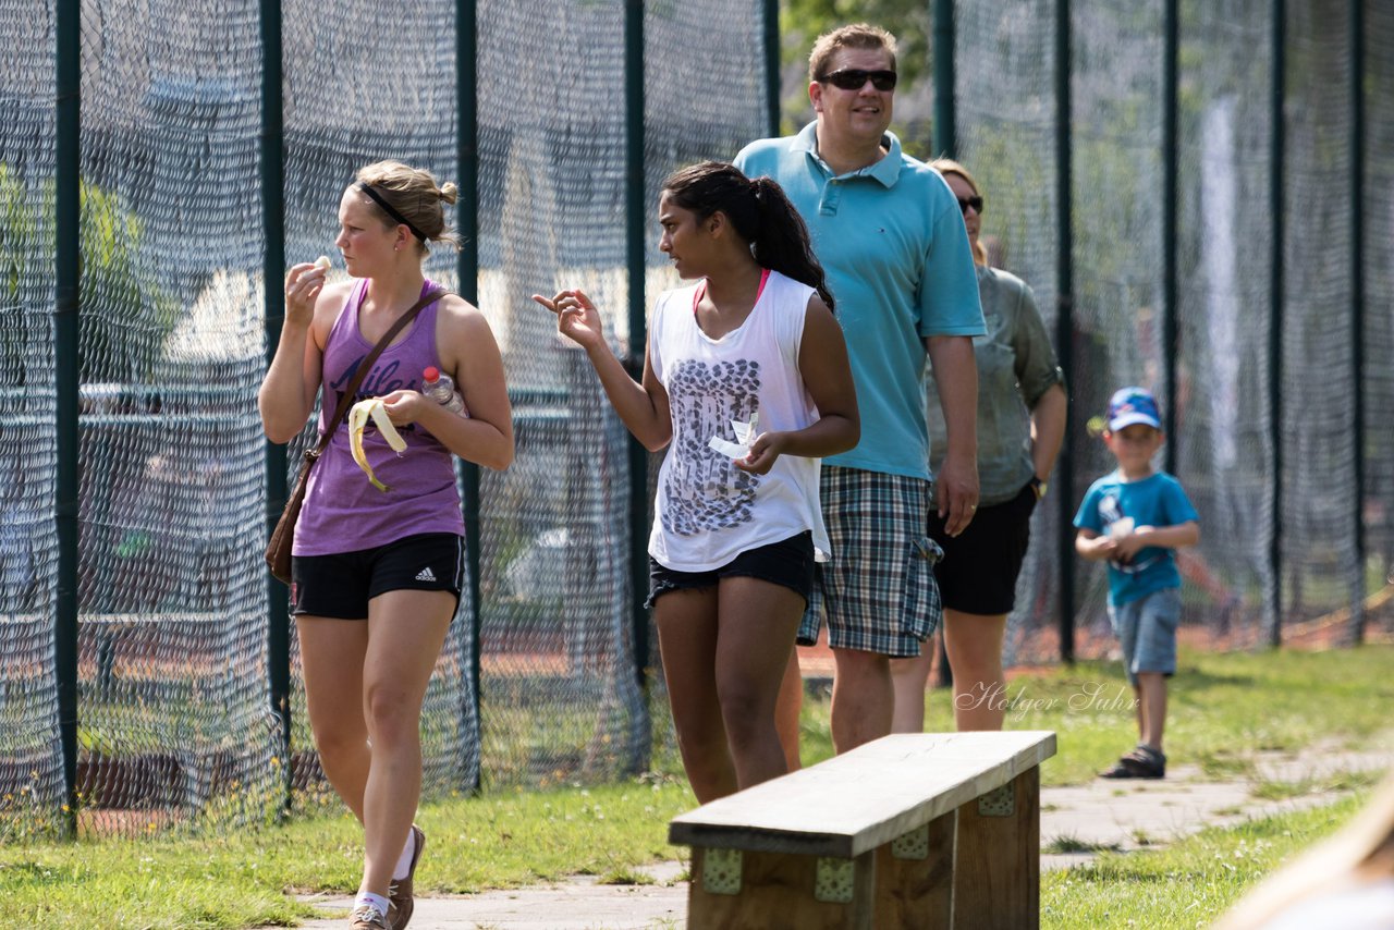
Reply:
[[[53, 4], [0, 0], [0, 837], [59, 831], [70, 802], [79, 830], [135, 834], [277, 817], [287, 785], [291, 810], [332, 800], [293, 637], [289, 754], [268, 690], [276, 657], [255, 392], [270, 248], [262, 26], [272, 11], [284, 47], [287, 262], [330, 250], [357, 166], [397, 158], [461, 181], [477, 163], [464, 198], [478, 233], [466, 248], [503, 351], [517, 457], [480, 482], [480, 611], [463, 601], [432, 676], [427, 793], [598, 781], [671, 753], [661, 676], [643, 672], [657, 668], [654, 637], [634, 623], [643, 593], [631, 581], [630, 487], [651, 489], [657, 460], [633, 474], [640, 460], [588, 363], [528, 296], [585, 289], [627, 353], [630, 289], [643, 287], [647, 303], [673, 283], [657, 252], [662, 177], [730, 158], [768, 131], [772, 4], [481, 0], [478, 146], [464, 151], [457, 15], [471, 4], [427, 0], [383, 29], [357, 0], [61, 3], [81, 13], [75, 349], [57, 342], [53, 312], [61, 17]], [[1394, 11], [1365, 3], [1356, 29], [1349, 4], [1288, 4], [1278, 54], [1269, 7], [1185, 6], [1168, 152], [1163, 0], [1069, 4], [1065, 149], [1059, 8], [958, 4], [953, 29], [956, 155], [983, 183], [984, 234], [999, 264], [1033, 286], [1072, 357], [1075, 477], [1052, 484], [1052, 506], [1033, 524], [1009, 662], [1058, 660], [1065, 630], [1078, 655], [1110, 648], [1103, 573], [1068, 556], [1062, 516], [1110, 467], [1085, 421], [1132, 382], [1175, 399], [1175, 470], [1203, 514], [1203, 542], [1184, 559], [1188, 636], [1250, 647], [1322, 629], [1337, 640], [1386, 630], [1388, 611], [1369, 595], [1383, 588], [1394, 549], [1394, 434], [1383, 427], [1394, 409], [1383, 364], [1394, 351]], [[640, 49], [626, 45], [636, 10]], [[1355, 35], [1363, 59], [1352, 54]], [[629, 112], [625, 93], [636, 61], [643, 113]], [[1276, 75], [1287, 88], [1280, 105]], [[640, 131], [636, 165], [626, 142]], [[1171, 308], [1161, 258], [1170, 155]], [[638, 276], [626, 231], [636, 173]], [[459, 268], [438, 250], [427, 270], [461, 287]], [[56, 505], [54, 385], [74, 365], [81, 481], [70, 514]], [[293, 443], [291, 463], [309, 435]], [[54, 527], [70, 517], [78, 547], [66, 580]], [[77, 602], [71, 666], [54, 646], [66, 584]], [[1064, 602], [1073, 604], [1068, 616]], [[59, 710], [68, 685], [72, 798], [60, 738], [71, 721]]]

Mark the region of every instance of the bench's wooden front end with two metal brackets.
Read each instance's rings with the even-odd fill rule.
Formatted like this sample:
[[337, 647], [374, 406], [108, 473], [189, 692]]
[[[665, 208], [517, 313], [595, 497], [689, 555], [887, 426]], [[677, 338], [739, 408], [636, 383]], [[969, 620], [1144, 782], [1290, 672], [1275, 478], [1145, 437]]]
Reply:
[[824, 860], [821, 897], [845, 901], [820, 901], [815, 856], [693, 846], [687, 927], [871, 930], [875, 855], [871, 851], [852, 860]]

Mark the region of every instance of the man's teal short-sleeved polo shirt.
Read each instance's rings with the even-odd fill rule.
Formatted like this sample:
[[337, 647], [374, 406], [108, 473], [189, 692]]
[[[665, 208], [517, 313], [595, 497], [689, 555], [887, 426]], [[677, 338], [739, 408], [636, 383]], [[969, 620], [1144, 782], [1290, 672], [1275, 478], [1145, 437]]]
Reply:
[[901, 152], [834, 176], [803, 132], [751, 142], [747, 177], [779, 183], [809, 226], [836, 301], [861, 414], [861, 442], [828, 464], [930, 478], [924, 336], [981, 336], [977, 273], [958, 198], [927, 165]]

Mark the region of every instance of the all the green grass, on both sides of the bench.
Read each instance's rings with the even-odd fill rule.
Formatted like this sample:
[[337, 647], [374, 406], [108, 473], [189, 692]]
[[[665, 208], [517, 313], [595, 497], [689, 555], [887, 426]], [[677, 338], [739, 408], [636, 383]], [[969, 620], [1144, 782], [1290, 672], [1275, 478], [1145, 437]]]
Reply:
[[[1296, 750], [1330, 740], [1358, 743], [1386, 729], [1394, 699], [1387, 669], [1394, 650], [1200, 655], [1184, 653], [1172, 680], [1167, 750], [1225, 775], [1252, 770], [1255, 753]], [[1054, 729], [1059, 754], [1047, 784], [1092, 778], [1136, 739], [1131, 708], [1101, 707], [1126, 685], [1117, 665], [1079, 664], [1012, 682], [1011, 729]], [[1089, 697], [1094, 694], [1094, 697]], [[1073, 701], [1073, 703], [1072, 703]], [[928, 728], [952, 728], [949, 697], [928, 696]], [[825, 701], [806, 701], [804, 761], [831, 754]], [[665, 722], [655, 731], [668, 732]], [[638, 866], [686, 857], [666, 842], [668, 821], [694, 806], [675, 771], [671, 746], [655, 746], [665, 771], [618, 785], [549, 791], [499, 789], [422, 806], [431, 837], [417, 887], [422, 894], [514, 888], [572, 874], [643, 881]], [[1259, 786], [1274, 796], [1342, 784]], [[330, 810], [335, 803], [328, 805]], [[1292, 814], [1284, 827], [1248, 825], [1207, 832], [1163, 851], [1103, 853], [1090, 870], [1051, 873], [1043, 887], [1046, 926], [1197, 926], [1209, 922], [1255, 878], [1335, 818], [1334, 811]], [[1282, 818], [1287, 823], [1287, 818]], [[1267, 823], [1267, 821], [1264, 821]], [[1284, 832], [1287, 831], [1287, 832]], [[290, 926], [311, 916], [290, 892], [350, 894], [361, 869], [361, 835], [347, 816], [302, 817], [280, 827], [217, 835], [17, 839], [0, 846], [0, 901], [15, 926], [247, 927]], [[1189, 851], [1189, 852], [1186, 852]], [[1177, 888], [1184, 892], [1178, 895]], [[1172, 901], [1177, 898], [1177, 901]], [[1111, 915], [1111, 916], [1110, 916]], [[1069, 923], [1059, 923], [1069, 920]]]

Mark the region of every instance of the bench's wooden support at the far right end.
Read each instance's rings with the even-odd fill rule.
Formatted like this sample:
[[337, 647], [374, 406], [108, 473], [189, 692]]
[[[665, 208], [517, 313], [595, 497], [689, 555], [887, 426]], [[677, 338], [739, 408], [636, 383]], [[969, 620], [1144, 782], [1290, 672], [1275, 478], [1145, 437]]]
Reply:
[[1040, 770], [958, 809], [953, 926], [1040, 927]]

